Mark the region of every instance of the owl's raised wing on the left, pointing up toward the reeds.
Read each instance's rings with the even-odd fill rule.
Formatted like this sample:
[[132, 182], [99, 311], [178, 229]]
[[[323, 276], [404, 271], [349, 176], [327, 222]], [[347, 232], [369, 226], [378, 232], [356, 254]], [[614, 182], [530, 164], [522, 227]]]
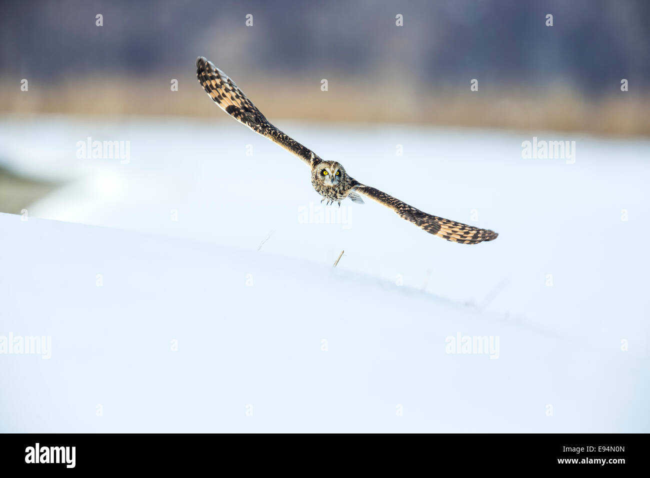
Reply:
[[253, 105], [253, 102], [246, 98], [244, 92], [235, 85], [235, 82], [205, 57], [196, 59], [196, 77], [214, 103], [235, 120], [250, 127], [255, 133], [278, 143], [309, 166], [314, 159], [320, 160], [309, 148], [305, 148], [298, 141], [291, 139], [270, 124], [261, 111]]

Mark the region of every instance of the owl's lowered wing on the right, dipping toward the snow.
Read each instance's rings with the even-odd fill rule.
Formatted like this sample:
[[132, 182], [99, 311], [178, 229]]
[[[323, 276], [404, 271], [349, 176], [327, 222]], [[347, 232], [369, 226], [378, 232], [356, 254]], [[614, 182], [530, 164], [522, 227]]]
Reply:
[[468, 226], [455, 220], [448, 220], [424, 213], [419, 209], [415, 209], [413, 206], [409, 206], [406, 202], [393, 198], [393, 196], [383, 193], [374, 187], [359, 184], [354, 188], [354, 191], [368, 196], [370, 199], [374, 199], [376, 202], [383, 204], [383, 206], [390, 207], [402, 219], [413, 222], [413, 224], [424, 229], [426, 232], [447, 239], [447, 241], [454, 241], [461, 244], [477, 244], [482, 241], [497, 239], [499, 235], [494, 231], [474, 228], [474, 226]]

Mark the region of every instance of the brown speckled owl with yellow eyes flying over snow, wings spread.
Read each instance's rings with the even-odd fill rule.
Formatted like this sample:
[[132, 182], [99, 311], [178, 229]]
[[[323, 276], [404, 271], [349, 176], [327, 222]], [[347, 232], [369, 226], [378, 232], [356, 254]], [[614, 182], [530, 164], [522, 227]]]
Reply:
[[366, 196], [393, 209], [402, 219], [413, 222], [426, 232], [447, 239], [447, 241], [476, 244], [497, 238], [498, 234], [494, 231], [474, 228], [454, 220], [427, 214], [379, 191], [379, 189], [359, 183], [348, 175], [343, 165], [336, 161], [321, 159], [313, 151], [270, 124], [252, 101], [246, 98], [244, 92], [235, 85], [235, 82], [204, 57], [196, 59], [196, 76], [208, 96], [227, 114], [250, 127], [255, 133], [265, 136], [294, 153], [309, 166], [311, 185], [322, 196], [321, 202], [327, 200], [328, 204], [336, 202], [341, 206], [342, 200], [350, 198], [354, 202], [363, 204], [361, 196]]

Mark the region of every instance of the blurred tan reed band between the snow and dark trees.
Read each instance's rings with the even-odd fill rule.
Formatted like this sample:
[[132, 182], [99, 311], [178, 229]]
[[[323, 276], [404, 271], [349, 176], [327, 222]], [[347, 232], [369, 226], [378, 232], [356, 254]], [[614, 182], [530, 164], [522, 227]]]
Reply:
[[[0, 79], [0, 114], [62, 113], [93, 116], [217, 114], [196, 79], [185, 77], [172, 92], [170, 79], [92, 77], [58, 84]], [[650, 94], [616, 91], [596, 98], [569, 88], [539, 91], [481, 84], [429, 86], [404, 83], [369, 85], [363, 78], [236, 78], [238, 85], [270, 119], [386, 122], [499, 129], [584, 131], [595, 135], [650, 136]], [[10, 93], [12, 92], [12, 93]]]

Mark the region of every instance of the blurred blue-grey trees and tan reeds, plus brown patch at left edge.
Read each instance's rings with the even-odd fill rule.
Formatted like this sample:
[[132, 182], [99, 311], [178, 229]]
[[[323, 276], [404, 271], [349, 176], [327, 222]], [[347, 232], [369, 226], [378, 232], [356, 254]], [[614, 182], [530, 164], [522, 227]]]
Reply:
[[276, 122], [650, 134], [643, 0], [22, 1], [1, 3], [0, 19], [4, 212], [70, 177], [25, 174], [10, 124], [43, 133], [57, 115], [215, 118], [196, 85], [198, 55]]

